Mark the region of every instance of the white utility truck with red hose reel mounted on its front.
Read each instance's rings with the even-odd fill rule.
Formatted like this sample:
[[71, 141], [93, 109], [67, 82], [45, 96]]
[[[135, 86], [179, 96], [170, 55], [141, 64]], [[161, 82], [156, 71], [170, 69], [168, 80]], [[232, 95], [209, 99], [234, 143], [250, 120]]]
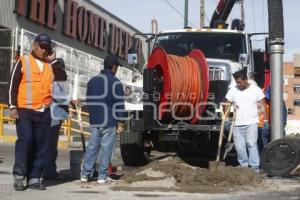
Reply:
[[[232, 6], [223, 5], [223, 13]], [[151, 150], [215, 159], [220, 104], [235, 84], [232, 74], [243, 69], [253, 83], [264, 85], [265, 54], [252, 49], [254, 34], [245, 33], [239, 20], [225, 29], [224, 16], [214, 16], [212, 27], [152, 36], [143, 84], [125, 86], [126, 103], [131, 105], [127, 130], [120, 138], [125, 165], [146, 164]]]

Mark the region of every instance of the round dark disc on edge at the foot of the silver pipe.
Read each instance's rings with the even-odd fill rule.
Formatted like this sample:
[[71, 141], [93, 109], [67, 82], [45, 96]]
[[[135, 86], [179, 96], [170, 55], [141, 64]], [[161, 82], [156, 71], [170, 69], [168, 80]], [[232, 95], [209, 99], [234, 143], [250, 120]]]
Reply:
[[285, 137], [269, 143], [261, 153], [261, 167], [270, 176], [287, 176], [299, 164], [300, 140]]

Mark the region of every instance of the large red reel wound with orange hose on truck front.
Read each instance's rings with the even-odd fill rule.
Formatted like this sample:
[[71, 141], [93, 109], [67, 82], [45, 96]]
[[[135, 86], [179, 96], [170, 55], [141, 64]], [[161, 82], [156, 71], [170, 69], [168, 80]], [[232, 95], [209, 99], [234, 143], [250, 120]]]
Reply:
[[[155, 48], [148, 60], [149, 69], [159, 69], [163, 77], [159, 119], [166, 109], [175, 107], [176, 116], [192, 116], [191, 123], [197, 123], [204, 112], [208, 98], [208, 65], [200, 50], [192, 50], [187, 56], [167, 54], [162, 48]], [[191, 107], [196, 108], [191, 113]]]

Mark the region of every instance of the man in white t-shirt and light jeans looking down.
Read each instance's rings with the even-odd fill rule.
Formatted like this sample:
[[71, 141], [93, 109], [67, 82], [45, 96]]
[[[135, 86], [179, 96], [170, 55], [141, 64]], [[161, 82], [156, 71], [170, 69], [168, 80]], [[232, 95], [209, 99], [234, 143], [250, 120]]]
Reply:
[[233, 77], [236, 86], [230, 88], [225, 98], [227, 103], [233, 103], [238, 108], [233, 128], [237, 158], [242, 167], [251, 167], [258, 172], [257, 123], [258, 110], [262, 110], [258, 106], [264, 108], [265, 96], [258, 86], [248, 82], [244, 70], [235, 72]]

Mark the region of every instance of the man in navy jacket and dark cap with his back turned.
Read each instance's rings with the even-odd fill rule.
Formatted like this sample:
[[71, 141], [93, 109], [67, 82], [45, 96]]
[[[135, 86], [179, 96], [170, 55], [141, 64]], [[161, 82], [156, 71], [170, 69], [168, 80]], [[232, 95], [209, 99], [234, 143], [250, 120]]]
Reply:
[[82, 182], [88, 182], [92, 177], [100, 150], [102, 153], [98, 183], [113, 181], [107, 175], [108, 165], [111, 161], [116, 131], [122, 132], [124, 129], [124, 91], [120, 80], [115, 77], [119, 65], [116, 56], [108, 55], [104, 59], [104, 70], [88, 82], [86, 102], [91, 136], [82, 165]]

